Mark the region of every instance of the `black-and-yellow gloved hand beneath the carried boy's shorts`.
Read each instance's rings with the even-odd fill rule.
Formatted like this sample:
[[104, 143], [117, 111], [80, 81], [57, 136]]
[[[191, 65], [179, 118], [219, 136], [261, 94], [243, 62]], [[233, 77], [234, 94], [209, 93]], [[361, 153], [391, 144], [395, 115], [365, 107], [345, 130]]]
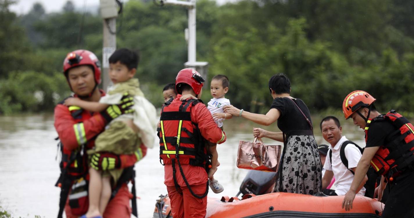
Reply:
[[91, 167], [95, 170], [113, 170], [120, 166], [119, 156], [113, 153], [94, 153], [91, 157]]

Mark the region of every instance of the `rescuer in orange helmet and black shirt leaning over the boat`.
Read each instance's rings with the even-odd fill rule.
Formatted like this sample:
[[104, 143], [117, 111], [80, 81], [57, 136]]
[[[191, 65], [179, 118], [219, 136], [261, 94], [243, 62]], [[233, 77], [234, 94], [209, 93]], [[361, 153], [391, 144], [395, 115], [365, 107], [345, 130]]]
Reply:
[[342, 111], [345, 119], [365, 130], [366, 147], [356, 166], [354, 180], [342, 201], [342, 208], [349, 211], [355, 192], [370, 165], [382, 176], [374, 197], [381, 200], [385, 186], [390, 193], [381, 217], [414, 217], [414, 126], [395, 110], [380, 114], [375, 98], [368, 92], [357, 90], [345, 97]]

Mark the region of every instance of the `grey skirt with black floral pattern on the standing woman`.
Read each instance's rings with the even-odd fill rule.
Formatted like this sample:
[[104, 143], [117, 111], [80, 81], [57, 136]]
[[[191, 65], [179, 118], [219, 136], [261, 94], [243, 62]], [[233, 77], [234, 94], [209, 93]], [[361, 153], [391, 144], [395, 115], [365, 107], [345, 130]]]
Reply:
[[289, 136], [285, 143], [275, 191], [315, 194], [322, 191], [322, 163], [313, 136]]

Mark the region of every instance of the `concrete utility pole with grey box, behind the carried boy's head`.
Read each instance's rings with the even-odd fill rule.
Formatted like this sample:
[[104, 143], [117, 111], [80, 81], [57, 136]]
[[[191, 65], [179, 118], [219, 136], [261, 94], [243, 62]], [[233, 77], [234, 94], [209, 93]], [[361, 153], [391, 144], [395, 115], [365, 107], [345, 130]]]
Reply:
[[116, 17], [118, 10], [116, 0], [100, 0], [100, 11], [103, 19], [103, 48], [102, 48], [102, 86], [107, 91], [111, 85], [109, 79], [109, 57], [116, 50]]

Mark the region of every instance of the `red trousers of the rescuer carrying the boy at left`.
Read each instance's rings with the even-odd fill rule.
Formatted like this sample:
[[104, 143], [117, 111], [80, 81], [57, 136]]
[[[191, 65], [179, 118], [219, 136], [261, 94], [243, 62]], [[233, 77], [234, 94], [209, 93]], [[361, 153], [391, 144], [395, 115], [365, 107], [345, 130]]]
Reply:
[[[132, 199], [132, 194], [128, 190], [128, 186], [125, 184], [119, 189], [116, 196], [111, 201], [109, 201], [108, 205], [105, 208], [105, 212], [103, 213], [103, 217], [130, 218], [132, 212], [130, 199]], [[69, 200], [66, 202], [65, 206], [66, 218], [78, 218], [79, 216], [72, 214], [68, 203]]]

